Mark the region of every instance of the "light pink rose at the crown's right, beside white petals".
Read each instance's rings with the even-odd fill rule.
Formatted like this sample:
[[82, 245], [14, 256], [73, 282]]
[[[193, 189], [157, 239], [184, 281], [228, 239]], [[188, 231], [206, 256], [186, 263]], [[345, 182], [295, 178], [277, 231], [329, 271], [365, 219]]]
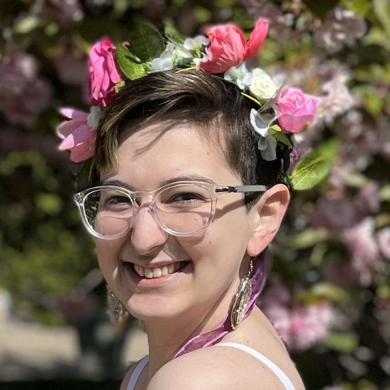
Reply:
[[279, 126], [290, 133], [300, 132], [315, 121], [319, 103], [320, 98], [305, 95], [298, 88], [282, 89], [277, 100]]

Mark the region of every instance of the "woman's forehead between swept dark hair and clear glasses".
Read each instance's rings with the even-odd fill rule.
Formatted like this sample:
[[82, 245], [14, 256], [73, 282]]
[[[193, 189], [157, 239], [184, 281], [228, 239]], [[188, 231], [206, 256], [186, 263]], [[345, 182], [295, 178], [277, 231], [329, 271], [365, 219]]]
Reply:
[[217, 184], [237, 184], [213, 128], [187, 122], [163, 121], [132, 126], [120, 135], [117, 167], [101, 180], [119, 179], [144, 190], [181, 176], [204, 176]]

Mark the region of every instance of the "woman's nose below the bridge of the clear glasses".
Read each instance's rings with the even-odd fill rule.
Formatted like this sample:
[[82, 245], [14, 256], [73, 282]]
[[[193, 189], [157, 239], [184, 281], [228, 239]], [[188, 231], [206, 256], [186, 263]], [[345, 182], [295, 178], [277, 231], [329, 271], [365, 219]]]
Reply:
[[153, 254], [168, 239], [168, 233], [160, 228], [152, 213], [148, 205], [142, 205], [133, 222], [130, 239], [133, 248], [141, 255]]

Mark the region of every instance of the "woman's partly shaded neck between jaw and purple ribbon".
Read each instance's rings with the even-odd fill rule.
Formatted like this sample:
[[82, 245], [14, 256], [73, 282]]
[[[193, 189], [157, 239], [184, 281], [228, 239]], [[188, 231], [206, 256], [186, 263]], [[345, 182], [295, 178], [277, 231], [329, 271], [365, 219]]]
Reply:
[[209, 308], [204, 306], [181, 315], [180, 318], [161, 320], [145, 320], [145, 330], [149, 342], [149, 370], [147, 384], [155, 373], [172, 360], [189, 340], [199, 334], [207, 333], [218, 327], [232, 306], [232, 298], [238, 289], [238, 284], [223, 294]]

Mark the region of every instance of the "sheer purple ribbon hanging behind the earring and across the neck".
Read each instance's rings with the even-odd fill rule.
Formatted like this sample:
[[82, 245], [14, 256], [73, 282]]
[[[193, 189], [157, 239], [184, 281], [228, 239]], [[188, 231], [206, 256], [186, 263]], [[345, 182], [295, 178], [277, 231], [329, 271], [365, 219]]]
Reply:
[[[268, 271], [267, 270], [268, 267], [266, 267], [265, 252], [266, 250], [263, 251], [254, 259], [254, 270], [252, 272], [252, 295], [244, 319], [248, 317], [249, 314], [251, 314], [252, 309], [256, 304], [257, 297], [259, 296], [261, 290], [263, 289], [266, 281], [266, 274]], [[226, 314], [225, 318], [222, 320], [222, 322], [218, 325], [217, 328], [207, 333], [198, 334], [197, 336], [187, 341], [187, 343], [184, 344], [184, 346], [179, 351], [176, 352], [174, 359], [175, 357], [181, 356], [184, 353], [214, 345], [230, 331], [232, 331], [232, 323], [230, 320], [230, 310], [229, 310], [229, 312]]]

